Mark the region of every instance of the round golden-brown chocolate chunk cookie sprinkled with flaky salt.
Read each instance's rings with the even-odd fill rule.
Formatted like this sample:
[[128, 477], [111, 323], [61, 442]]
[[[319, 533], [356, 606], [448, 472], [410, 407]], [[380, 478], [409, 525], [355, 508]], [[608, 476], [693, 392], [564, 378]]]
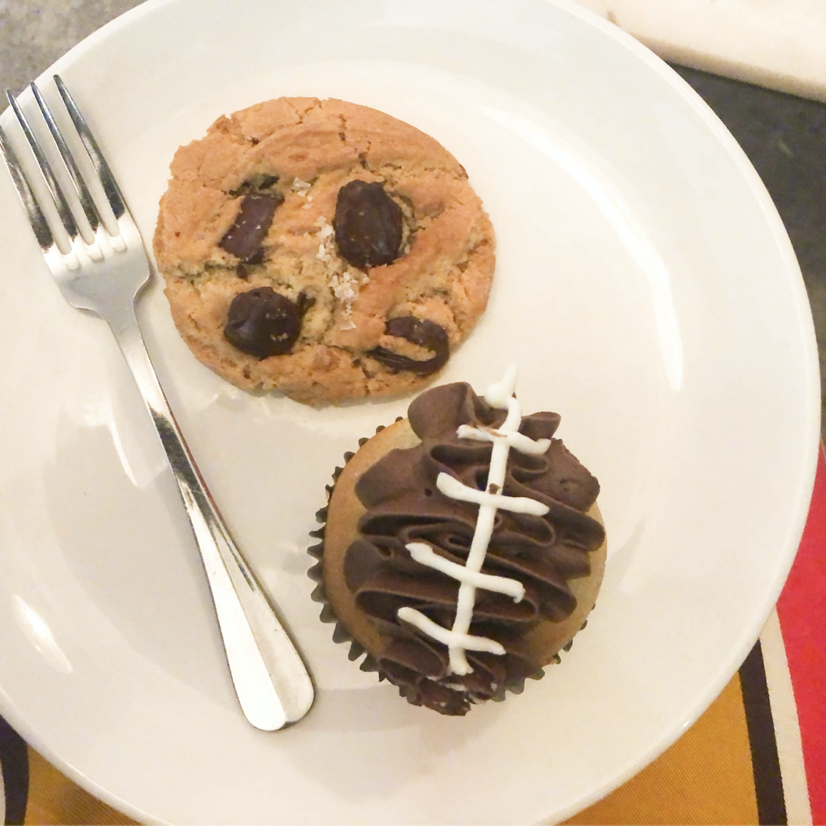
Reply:
[[487, 305], [494, 236], [458, 161], [339, 100], [281, 97], [181, 147], [154, 254], [178, 331], [245, 390], [420, 387]]

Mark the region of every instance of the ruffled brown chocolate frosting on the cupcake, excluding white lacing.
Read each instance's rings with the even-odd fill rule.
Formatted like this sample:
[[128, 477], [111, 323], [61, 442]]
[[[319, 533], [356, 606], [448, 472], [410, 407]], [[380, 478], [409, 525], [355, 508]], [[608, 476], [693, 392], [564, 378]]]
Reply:
[[491, 443], [459, 439], [456, 430], [459, 425], [496, 428], [505, 416], [506, 411], [488, 406], [468, 384], [435, 387], [408, 411], [421, 444], [387, 453], [355, 488], [367, 512], [358, 523], [359, 539], [347, 549], [344, 577], [357, 605], [386, 640], [377, 657], [379, 671], [411, 703], [443, 714], [465, 714], [472, 702], [501, 695], [544, 665], [529, 652], [525, 634], [543, 619], [560, 621], [571, 615], [577, 601], [567, 582], [591, 572], [588, 553], [605, 538], [599, 522], [584, 512], [596, 500], [599, 483], [562, 441], [551, 439], [559, 416], [527, 415], [520, 433], [551, 439], [550, 447], [541, 456], [511, 449], [504, 491], [499, 492], [538, 500], [548, 506], [548, 514], [497, 511], [482, 572], [518, 580], [525, 597], [514, 602], [477, 590], [469, 630], [495, 639], [506, 653], [468, 651], [473, 671], [456, 676], [449, 673], [448, 650], [442, 643], [396, 617], [399, 608], [410, 605], [445, 628], [453, 625], [458, 582], [415, 562], [405, 545], [425, 542], [440, 556], [465, 563], [478, 506], [444, 496], [436, 477], [446, 472], [484, 490]]

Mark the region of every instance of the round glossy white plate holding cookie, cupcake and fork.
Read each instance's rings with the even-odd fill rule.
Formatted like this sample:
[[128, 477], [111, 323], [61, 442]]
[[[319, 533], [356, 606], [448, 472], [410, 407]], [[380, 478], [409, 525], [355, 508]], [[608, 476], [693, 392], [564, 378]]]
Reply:
[[236, 391], [189, 354], [155, 282], [140, 318], [161, 379], [319, 687], [293, 729], [250, 728], [115, 344], [59, 296], [3, 173], [2, 712], [138, 819], [561, 819], [704, 710], [795, 552], [819, 390], [786, 233], [691, 89], [567, 2], [231, 9], [152, 0], [55, 64], [145, 238], [175, 148], [268, 97], [343, 97], [442, 141], [499, 240], [491, 304], [444, 381], [483, 388], [515, 361], [525, 411], [563, 415], [603, 488], [599, 605], [563, 666], [467, 718], [378, 686], [318, 622], [305, 548], [341, 454], [409, 400], [311, 410]]

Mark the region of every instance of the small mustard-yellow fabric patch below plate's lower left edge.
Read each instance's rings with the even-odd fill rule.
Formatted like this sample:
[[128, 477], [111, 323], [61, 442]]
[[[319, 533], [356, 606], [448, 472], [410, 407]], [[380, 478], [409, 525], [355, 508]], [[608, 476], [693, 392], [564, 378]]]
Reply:
[[128, 826], [135, 821], [81, 789], [29, 748], [29, 801], [25, 823], [37, 826]]

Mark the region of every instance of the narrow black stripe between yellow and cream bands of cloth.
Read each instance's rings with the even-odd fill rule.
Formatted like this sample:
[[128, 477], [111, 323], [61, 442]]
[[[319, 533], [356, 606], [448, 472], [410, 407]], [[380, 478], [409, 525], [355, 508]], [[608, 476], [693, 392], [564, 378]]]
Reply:
[[783, 779], [759, 639], [740, 667], [740, 690], [746, 711], [748, 745], [752, 751], [758, 822], [761, 826], [786, 826]]

